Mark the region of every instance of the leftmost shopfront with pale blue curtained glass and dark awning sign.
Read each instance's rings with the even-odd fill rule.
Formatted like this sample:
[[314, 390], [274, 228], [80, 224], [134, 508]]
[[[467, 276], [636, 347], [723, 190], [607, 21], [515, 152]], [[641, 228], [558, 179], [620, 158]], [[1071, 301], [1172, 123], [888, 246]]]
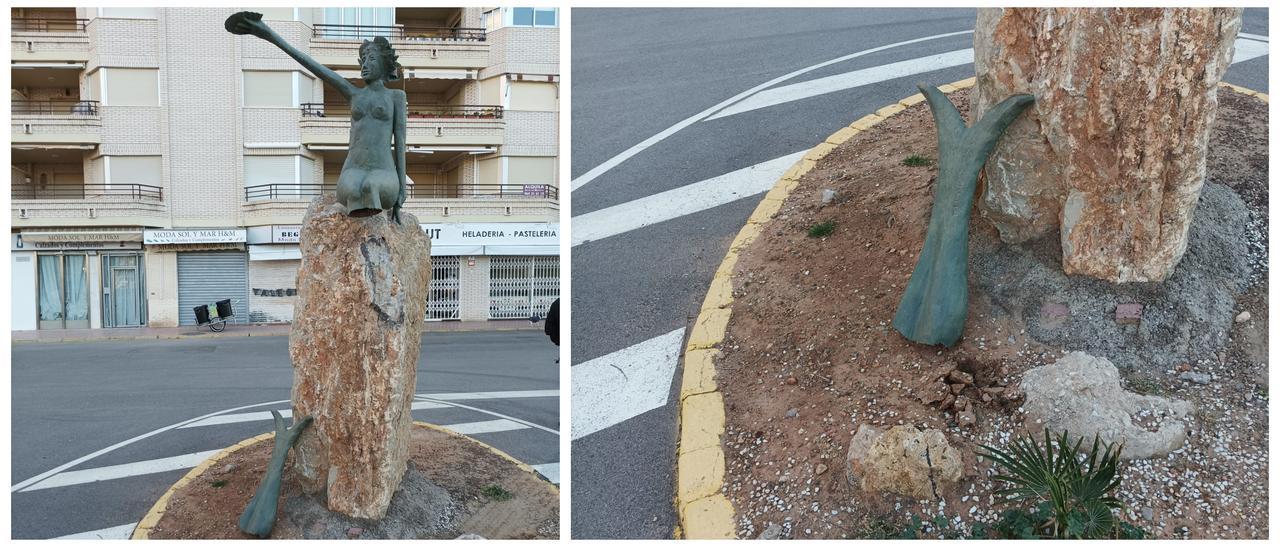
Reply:
[[13, 234], [12, 329], [146, 325], [142, 239], [142, 230]]

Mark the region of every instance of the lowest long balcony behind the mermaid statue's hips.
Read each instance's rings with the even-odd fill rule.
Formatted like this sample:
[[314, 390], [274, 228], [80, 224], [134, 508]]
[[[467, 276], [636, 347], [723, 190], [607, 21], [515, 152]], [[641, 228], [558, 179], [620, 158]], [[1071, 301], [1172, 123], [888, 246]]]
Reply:
[[[334, 184], [271, 183], [244, 188], [246, 224], [298, 224], [311, 200], [334, 192]], [[404, 210], [420, 222], [503, 220], [539, 222], [559, 211], [559, 191], [550, 184], [447, 184], [408, 187]]]

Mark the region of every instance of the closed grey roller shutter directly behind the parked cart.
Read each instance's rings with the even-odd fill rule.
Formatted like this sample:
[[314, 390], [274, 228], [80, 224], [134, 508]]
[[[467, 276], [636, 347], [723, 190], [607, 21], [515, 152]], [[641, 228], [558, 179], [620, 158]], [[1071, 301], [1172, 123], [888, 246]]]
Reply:
[[248, 323], [248, 254], [243, 251], [178, 254], [178, 324], [196, 325], [200, 305], [232, 300], [230, 323]]

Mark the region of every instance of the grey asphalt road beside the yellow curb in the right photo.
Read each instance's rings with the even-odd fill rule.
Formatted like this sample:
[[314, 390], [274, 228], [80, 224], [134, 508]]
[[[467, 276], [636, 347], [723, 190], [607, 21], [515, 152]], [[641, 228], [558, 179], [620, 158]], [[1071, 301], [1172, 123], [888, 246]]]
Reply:
[[[573, 230], [580, 216], [593, 211], [612, 213], [607, 209], [808, 150], [850, 122], [915, 93], [916, 82], [941, 85], [973, 76], [972, 64], [954, 65], [696, 122], [598, 177], [591, 173], [681, 120], [773, 78], [879, 46], [972, 31], [974, 14], [972, 9], [575, 9]], [[1267, 36], [1266, 17], [1265, 9], [1247, 10], [1243, 32]], [[959, 35], [890, 47], [771, 90], [972, 45], [972, 35]], [[1267, 91], [1267, 56], [1233, 65], [1226, 81]], [[575, 246], [575, 370], [686, 328], [759, 197], [724, 201]], [[680, 378], [678, 369], [672, 376]], [[666, 402], [599, 431], [573, 434], [573, 538], [671, 538], [677, 525], [672, 499], [678, 382], [636, 388], [666, 392]], [[575, 425], [579, 414], [593, 411], [575, 406]]]

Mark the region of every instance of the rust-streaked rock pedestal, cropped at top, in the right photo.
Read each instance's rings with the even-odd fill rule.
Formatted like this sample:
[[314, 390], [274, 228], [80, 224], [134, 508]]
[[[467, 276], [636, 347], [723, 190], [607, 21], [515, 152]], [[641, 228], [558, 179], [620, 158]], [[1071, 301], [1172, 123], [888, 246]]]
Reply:
[[986, 168], [980, 207], [1001, 237], [1060, 228], [1068, 274], [1167, 278], [1239, 29], [1235, 8], [978, 10], [972, 118], [1036, 96]]

